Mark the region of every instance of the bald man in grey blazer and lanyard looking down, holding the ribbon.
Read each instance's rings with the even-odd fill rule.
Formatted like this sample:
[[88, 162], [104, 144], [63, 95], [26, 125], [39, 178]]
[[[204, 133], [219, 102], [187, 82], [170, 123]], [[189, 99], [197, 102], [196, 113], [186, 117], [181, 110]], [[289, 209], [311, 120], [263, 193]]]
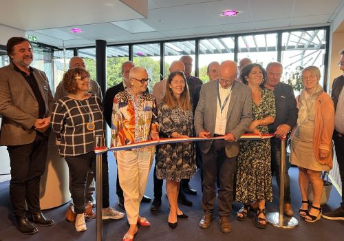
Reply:
[[218, 205], [220, 228], [231, 231], [228, 216], [232, 210], [233, 177], [239, 153], [237, 140], [248, 130], [252, 121], [252, 97], [249, 88], [237, 81], [237, 64], [224, 61], [219, 67], [219, 80], [204, 84], [195, 110], [195, 132], [198, 137], [224, 136], [224, 140], [200, 142], [203, 160], [204, 216], [200, 227], [206, 229], [213, 220], [219, 174]]

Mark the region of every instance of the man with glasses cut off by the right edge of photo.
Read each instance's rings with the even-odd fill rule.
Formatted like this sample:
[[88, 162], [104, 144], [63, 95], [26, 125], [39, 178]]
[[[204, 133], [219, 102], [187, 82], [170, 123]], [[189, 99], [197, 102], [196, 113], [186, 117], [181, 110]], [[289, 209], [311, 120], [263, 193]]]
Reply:
[[343, 71], [343, 74], [334, 78], [331, 97], [335, 109], [333, 140], [339, 173], [341, 174], [342, 202], [337, 209], [322, 214], [323, 218], [330, 220], [344, 220], [344, 49], [341, 50], [340, 54], [341, 59], [338, 62], [338, 67]]

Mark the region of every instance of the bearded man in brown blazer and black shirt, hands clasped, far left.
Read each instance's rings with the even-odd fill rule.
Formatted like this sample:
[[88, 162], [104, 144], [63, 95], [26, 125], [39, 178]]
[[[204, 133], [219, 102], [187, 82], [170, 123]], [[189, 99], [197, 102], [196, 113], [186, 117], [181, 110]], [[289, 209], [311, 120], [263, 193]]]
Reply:
[[10, 198], [17, 229], [33, 234], [38, 229], [26, 218], [25, 200], [32, 222], [54, 224], [43, 216], [39, 204], [54, 99], [45, 73], [30, 67], [33, 54], [28, 39], [9, 39], [7, 54], [11, 63], [0, 68], [0, 145], [6, 145], [10, 155]]

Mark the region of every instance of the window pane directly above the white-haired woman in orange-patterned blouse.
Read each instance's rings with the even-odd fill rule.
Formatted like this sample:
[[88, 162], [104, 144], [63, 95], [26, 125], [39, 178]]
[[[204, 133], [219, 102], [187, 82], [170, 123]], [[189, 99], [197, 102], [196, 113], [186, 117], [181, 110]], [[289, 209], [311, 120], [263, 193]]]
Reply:
[[151, 93], [155, 83], [160, 81], [160, 43], [133, 45], [133, 63], [147, 69]]

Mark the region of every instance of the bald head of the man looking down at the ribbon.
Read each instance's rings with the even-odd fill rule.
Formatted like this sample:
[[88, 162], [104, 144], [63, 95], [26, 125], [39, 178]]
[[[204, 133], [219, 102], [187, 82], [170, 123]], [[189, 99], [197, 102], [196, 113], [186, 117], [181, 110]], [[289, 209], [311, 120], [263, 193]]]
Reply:
[[237, 77], [237, 63], [234, 61], [223, 61], [219, 65], [219, 84], [224, 89], [230, 87]]

